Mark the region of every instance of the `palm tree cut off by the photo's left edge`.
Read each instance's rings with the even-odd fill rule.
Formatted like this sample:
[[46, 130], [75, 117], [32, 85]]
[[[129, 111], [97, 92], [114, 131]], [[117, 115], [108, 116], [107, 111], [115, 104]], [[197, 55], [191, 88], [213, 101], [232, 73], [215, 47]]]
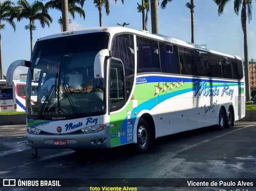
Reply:
[[3, 69], [3, 57], [2, 57], [2, 35], [1, 30], [5, 29], [5, 24], [2, 22], [9, 23], [12, 28], [14, 28], [14, 32], [16, 29], [16, 25], [12, 18], [13, 6], [15, 6], [14, 2], [11, 1], [0, 1], [0, 80], [4, 79], [4, 69]]

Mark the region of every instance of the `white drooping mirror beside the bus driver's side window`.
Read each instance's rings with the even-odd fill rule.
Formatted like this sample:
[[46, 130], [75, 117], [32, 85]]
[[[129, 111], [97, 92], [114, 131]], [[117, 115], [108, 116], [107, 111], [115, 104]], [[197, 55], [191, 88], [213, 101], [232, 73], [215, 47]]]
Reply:
[[110, 51], [108, 49], [103, 49], [96, 54], [94, 59], [94, 79], [104, 78], [104, 62], [105, 58], [109, 57]]

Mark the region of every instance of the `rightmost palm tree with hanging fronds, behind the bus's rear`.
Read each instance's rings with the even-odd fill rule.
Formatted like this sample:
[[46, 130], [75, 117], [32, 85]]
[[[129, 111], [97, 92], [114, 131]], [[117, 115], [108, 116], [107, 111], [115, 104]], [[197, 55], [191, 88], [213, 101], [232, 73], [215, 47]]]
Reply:
[[[224, 7], [230, 0], [213, 0], [218, 5], [218, 15], [222, 15]], [[242, 6], [242, 8], [241, 8]], [[250, 79], [249, 79], [249, 62], [248, 62], [248, 44], [247, 44], [247, 16], [248, 23], [252, 20], [252, 0], [234, 0], [234, 12], [239, 14], [241, 8], [241, 24], [244, 32], [244, 68], [245, 68], [245, 89], [246, 101], [250, 100]]]

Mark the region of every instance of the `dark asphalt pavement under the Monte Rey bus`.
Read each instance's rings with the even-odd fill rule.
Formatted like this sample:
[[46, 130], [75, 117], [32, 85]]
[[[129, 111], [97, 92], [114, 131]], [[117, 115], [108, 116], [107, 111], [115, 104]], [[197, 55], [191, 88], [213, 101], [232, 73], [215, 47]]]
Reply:
[[[39, 157], [30, 159], [33, 150], [26, 140], [26, 125], [0, 126], [0, 178], [103, 178], [120, 179], [256, 179], [256, 121], [239, 121], [217, 131], [205, 127], [156, 140], [144, 155], [131, 145], [106, 150], [75, 152], [70, 149], [39, 149]], [[73, 178], [73, 179], [72, 179]], [[87, 185], [88, 186], [88, 185]], [[86, 190], [90, 187], [0, 187], [0, 191]], [[230, 191], [233, 187], [138, 187], [138, 191]], [[240, 187], [239, 191], [256, 191]], [[102, 189], [100, 189], [102, 190]], [[237, 190], [238, 191], [238, 190]]]

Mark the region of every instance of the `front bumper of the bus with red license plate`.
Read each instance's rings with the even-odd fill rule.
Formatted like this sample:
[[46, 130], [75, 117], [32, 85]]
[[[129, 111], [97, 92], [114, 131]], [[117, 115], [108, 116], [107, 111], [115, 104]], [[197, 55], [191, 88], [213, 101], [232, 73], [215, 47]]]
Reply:
[[27, 133], [33, 149], [101, 149], [110, 148], [110, 135], [106, 129], [92, 133], [41, 135]]

